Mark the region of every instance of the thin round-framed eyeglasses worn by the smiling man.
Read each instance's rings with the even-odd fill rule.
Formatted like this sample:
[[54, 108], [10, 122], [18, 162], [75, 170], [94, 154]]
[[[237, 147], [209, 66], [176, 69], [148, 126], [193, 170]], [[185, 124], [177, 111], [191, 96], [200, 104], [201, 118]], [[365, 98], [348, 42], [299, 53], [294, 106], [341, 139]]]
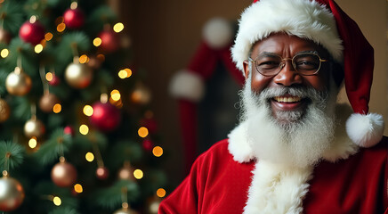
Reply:
[[255, 62], [256, 70], [266, 77], [279, 74], [288, 60], [291, 60], [294, 70], [303, 76], [318, 73], [321, 62], [328, 61], [322, 60], [317, 52], [297, 53], [293, 58], [282, 58], [276, 53], [262, 53], [255, 60], [249, 57], [250, 62]]

